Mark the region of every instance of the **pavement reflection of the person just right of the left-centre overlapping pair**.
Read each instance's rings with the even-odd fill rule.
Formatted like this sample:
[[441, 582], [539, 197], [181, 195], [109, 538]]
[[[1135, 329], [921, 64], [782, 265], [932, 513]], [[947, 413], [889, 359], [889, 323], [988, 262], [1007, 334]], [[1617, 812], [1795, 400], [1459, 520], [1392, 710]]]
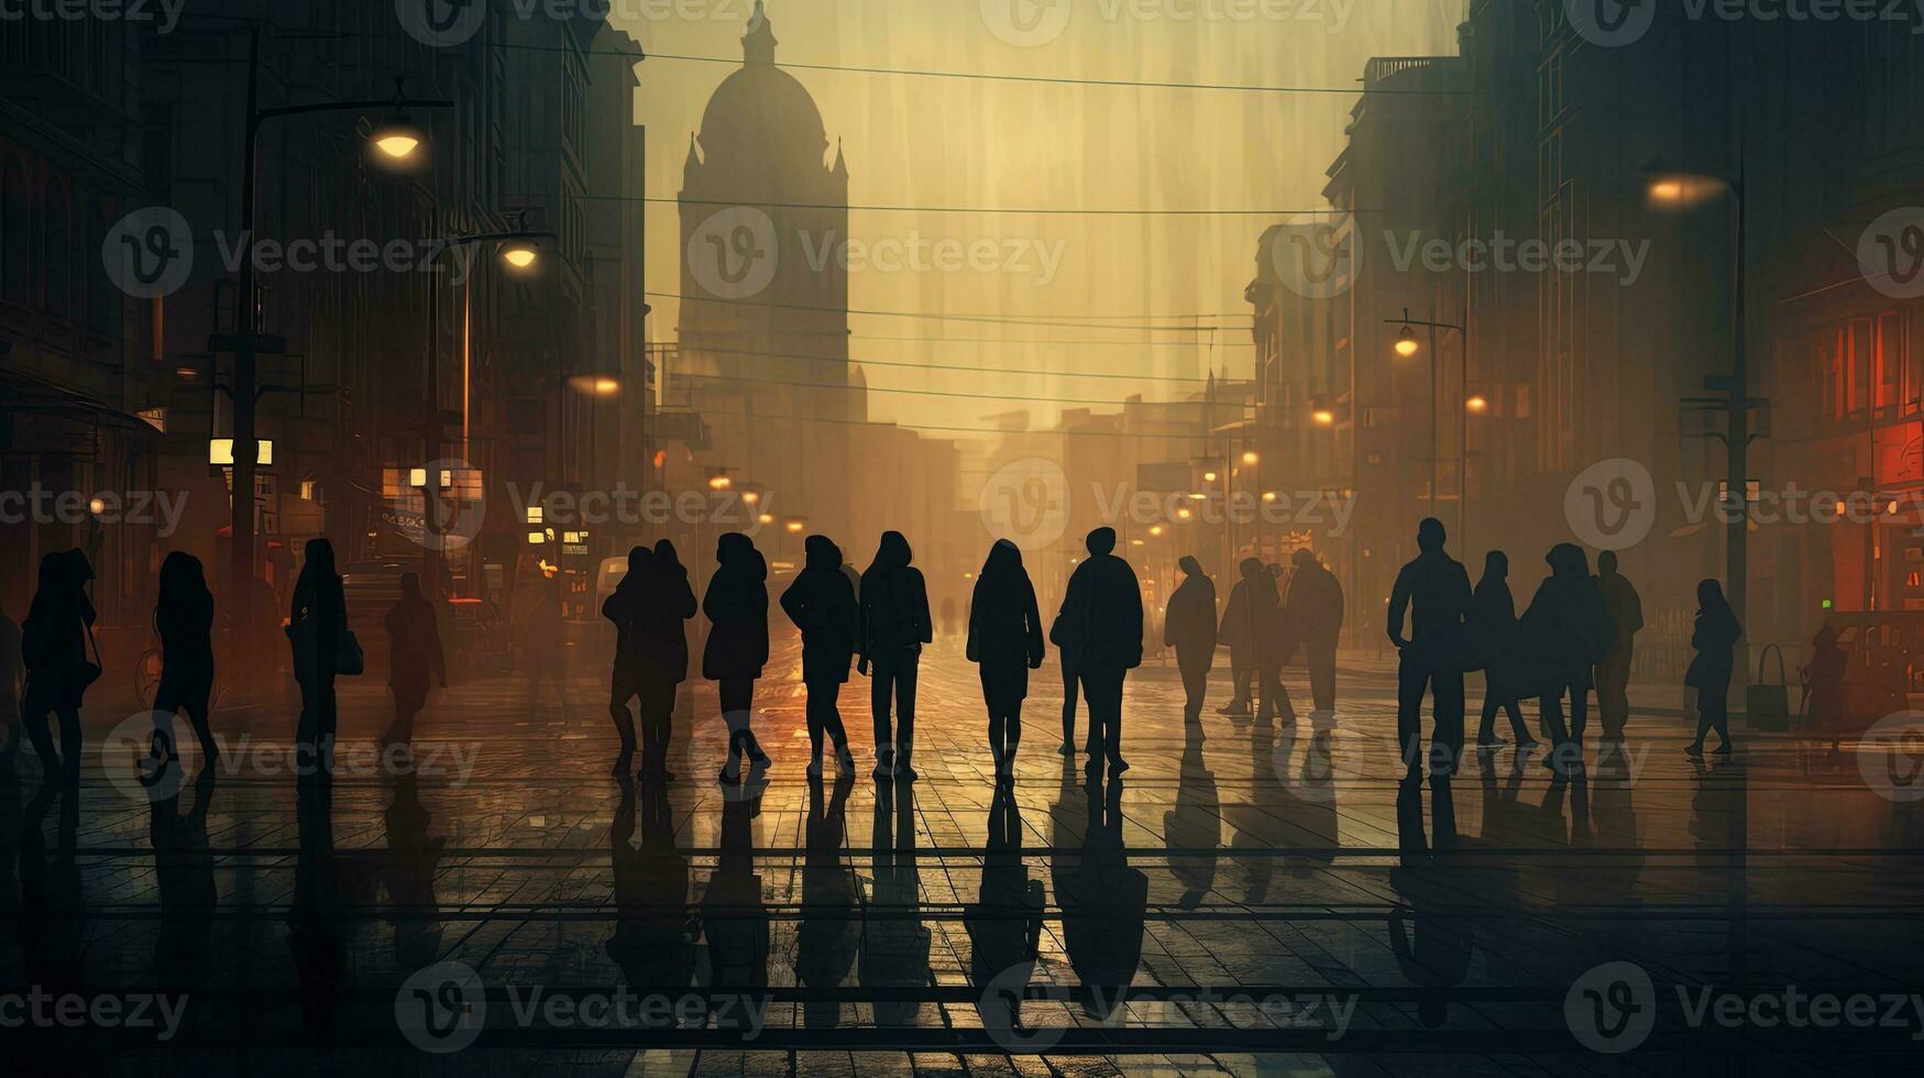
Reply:
[[[723, 801], [722, 849], [702, 895], [710, 991], [752, 995], [756, 1007], [768, 989], [768, 907], [754, 872], [754, 818], [760, 814], [760, 793]], [[745, 1007], [716, 1005], [712, 1014], [716, 1028], [748, 1028]]]

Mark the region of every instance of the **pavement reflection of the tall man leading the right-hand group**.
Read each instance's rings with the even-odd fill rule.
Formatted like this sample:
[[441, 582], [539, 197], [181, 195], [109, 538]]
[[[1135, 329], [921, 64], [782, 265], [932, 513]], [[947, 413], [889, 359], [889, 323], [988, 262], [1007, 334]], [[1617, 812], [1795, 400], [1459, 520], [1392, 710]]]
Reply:
[[[1410, 780], [1403, 782], [1405, 787]], [[1406, 793], [1399, 791], [1399, 801]], [[1420, 797], [1420, 793], [1418, 793]], [[1401, 814], [1399, 805], [1399, 814]], [[1422, 808], [1418, 808], [1422, 812]], [[1430, 989], [1416, 1003], [1416, 1020], [1433, 1030], [1449, 1020], [1445, 991], [1462, 986], [1476, 955], [1476, 916], [1491, 911], [1470, 909], [1472, 876], [1456, 841], [1456, 810], [1447, 774], [1430, 780], [1433, 851], [1437, 857], [1405, 860], [1389, 872], [1401, 905], [1391, 911], [1387, 936], [1403, 978]], [[1478, 895], [1483, 874], [1478, 872]]]

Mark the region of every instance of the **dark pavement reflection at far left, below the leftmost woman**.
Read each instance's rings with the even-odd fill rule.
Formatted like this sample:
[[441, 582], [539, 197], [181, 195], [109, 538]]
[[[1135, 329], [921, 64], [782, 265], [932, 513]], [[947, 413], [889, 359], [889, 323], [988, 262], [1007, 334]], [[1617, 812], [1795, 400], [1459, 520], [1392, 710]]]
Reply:
[[[46, 816], [60, 803], [54, 849]], [[79, 785], [48, 782], [27, 803], [19, 832], [19, 959], [27, 984], [65, 995], [81, 988], [81, 939], [87, 907], [77, 860]]]

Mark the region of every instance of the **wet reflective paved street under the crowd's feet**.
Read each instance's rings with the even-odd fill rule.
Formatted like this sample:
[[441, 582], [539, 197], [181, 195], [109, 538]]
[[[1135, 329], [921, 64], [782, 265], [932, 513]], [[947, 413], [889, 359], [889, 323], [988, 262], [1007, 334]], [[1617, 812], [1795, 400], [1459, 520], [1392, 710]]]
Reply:
[[217, 718], [225, 757], [154, 787], [108, 705], [77, 787], [12, 739], [0, 1065], [1874, 1072], [1924, 1036], [1924, 787], [1874, 747], [1739, 728], [1734, 758], [1697, 762], [1678, 718], [1641, 716], [1585, 778], [1505, 747], [1405, 787], [1381, 666], [1347, 672], [1322, 728], [1301, 670], [1297, 724], [1218, 716], [1218, 670], [1185, 726], [1151, 666], [1131, 770], [1085, 785], [1056, 755], [1051, 662], [999, 799], [974, 666], [943, 641], [920, 780], [870, 778], [856, 680], [858, 774], [810, 782], [777, 641], [756, 699], [773, 766], [716, 783], [696, 681], [664, 787], [606, 774], [593, 672], [535, 701], [491, 674], [429, 705], [412, 762], [381, 751], [377, 680], [342, 680], [333, 776], [300, 774], [277, 710]]

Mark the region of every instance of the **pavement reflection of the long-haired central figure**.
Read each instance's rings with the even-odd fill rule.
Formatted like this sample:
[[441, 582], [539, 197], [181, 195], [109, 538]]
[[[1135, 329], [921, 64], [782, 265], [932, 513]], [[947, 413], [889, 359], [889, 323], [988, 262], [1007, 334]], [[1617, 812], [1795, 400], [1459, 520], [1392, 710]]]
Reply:
[[[981, 889], [962, 907], [970, 939], [970, 984], [981, 991], [981, 1024], [991, 1036], [1022, 1028], [1022, 989], [1029, 984], [1043, 939], [1043, 882], [1022, 862], [1022, 814], [1016, 789], [995, 787]], [[989, 986], [1002, 991], [989, 995]]]

